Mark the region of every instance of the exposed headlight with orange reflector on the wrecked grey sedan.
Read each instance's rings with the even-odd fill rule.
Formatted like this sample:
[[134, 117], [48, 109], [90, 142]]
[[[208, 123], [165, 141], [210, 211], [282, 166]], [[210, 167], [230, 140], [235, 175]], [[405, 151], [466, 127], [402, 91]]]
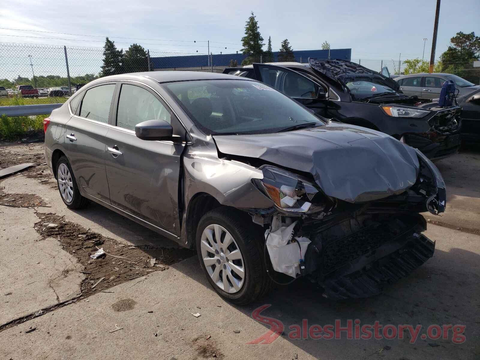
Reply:
[[278, 210], [291, 213], [314, 213], [324, 210], [323, 194], [308, 180], [270, 165], [260, 167], [263, 179], [253, 179], [255, 186], [275, 203]]

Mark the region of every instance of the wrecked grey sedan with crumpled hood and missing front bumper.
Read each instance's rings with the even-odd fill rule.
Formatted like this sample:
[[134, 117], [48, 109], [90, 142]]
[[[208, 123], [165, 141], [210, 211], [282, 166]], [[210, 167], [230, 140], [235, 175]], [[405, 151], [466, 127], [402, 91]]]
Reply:
[[44, 130], [68, 207], [94, 201], [196, 249], [238, 304], [300, 276], [329, 299], [372, 296], [433, 255], [419, 213], [444, 211], [445, 185], [430, 160], [247, 78], [104, 77]]

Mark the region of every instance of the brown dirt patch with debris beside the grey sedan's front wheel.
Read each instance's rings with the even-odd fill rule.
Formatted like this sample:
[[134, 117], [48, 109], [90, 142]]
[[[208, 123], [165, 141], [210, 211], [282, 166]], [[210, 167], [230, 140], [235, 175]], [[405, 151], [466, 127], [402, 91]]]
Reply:
[[[84, 297], [154, 271], [168, 270], [168, 265], [193, 255], [188, 249], [120, 244], [71, 221], [65, 221], [63, 216], [51, 213], [36, 215], [40, 221], [35, 224], [35, 229], [42, 238], [56, 238], [63, 250], [84, 265], [85, 279], [80, 285]], [[95, 260], [90, 258], [100, 248], [106, 254]]]

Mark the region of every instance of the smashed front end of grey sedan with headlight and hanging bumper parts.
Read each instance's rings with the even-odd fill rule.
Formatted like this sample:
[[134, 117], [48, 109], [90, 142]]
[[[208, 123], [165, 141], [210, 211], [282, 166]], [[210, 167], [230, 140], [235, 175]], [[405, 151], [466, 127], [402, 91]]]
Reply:
[[399, 193], [348, 202], [323, 192], [313, 179], [271, 165], [252, 179], [275, 204], [250, 211], [265, 228], [275, 271], [308, 277], [323, 296], [339, 300], [376, 295], [432, 257], [435, 243], [422, 235], [419, 213], [442, 213], [445, 184], [420, 151], [416, 182]]

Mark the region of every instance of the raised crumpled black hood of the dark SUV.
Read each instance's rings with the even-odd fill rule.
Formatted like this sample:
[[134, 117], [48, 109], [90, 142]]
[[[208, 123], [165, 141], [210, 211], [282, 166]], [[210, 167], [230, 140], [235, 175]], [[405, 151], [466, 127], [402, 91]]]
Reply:
[[351, 61], [340, 59], [322, 60], [308, 58], [308, 62], [314, 71], [319, 72], [320, 74], [336, 81], [337, 83], [340, 83], [347, 90], [348, 87], [346, 84], [348, 82], [359, 80], [382, 83], [394, 90], [400, 89], [400, 86], [395, 80], [382, 75], [380, 72], [367, 69], [366, 67]]

